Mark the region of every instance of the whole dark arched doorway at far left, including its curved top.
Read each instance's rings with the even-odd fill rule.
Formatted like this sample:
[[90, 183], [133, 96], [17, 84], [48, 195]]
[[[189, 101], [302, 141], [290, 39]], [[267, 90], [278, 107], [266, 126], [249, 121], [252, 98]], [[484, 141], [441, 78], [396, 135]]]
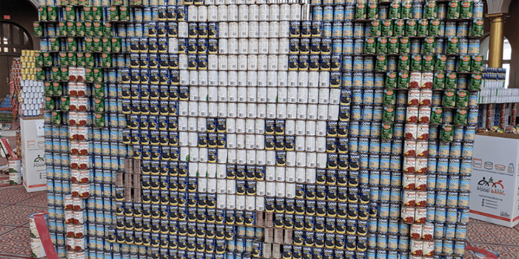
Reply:
[[33, 49], [31, 34], [13, 22], [0, 22], [0, 98], [9, 93], [9, 72], [12, 59], [20, 57], [22, 49]]

